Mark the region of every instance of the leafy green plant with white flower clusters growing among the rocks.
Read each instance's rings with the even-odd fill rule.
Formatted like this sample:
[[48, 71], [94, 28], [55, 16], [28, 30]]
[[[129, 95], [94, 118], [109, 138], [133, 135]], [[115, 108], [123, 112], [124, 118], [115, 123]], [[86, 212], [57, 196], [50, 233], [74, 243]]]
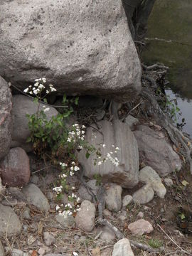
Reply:
[[[105, 161], [111, 161], [114, 166], [119, 165], [117, 159], [118, 147], [112, 145], [112, 151], [102, 156], [101, 148], [105, 148], [105, 144], [100, 145], [99, 149], [88, 144], [85, 141], [85, 126], [80, 124], [73, 124], [71, 127], [66, 125], [66, 119], [73, 112], [73, 107], [66, 107], [62, 113], [48, 119], [46, 113], [50, 111], [46, 96], [56, 89], [53, 85], [47, 85], [46, 78], [38, 78], [34, 85], [29, 85], [24, 92], [33, 95], [34, 102], [38, 105], [37, 111], [34, 114], [27, 114], [28, 126], [31, 131], [31, 136], [28, 137], [27, 142], [33, 144], [33, 149], [46, 159], [48, 156], [53, 164], [60, 168], [58, 176], [58, 183], [55, 184], [53, 191], [60, 199], [63, 193], [68, 193], [68, 203], [65, 205], [61, 203], [57, 205], [55, 210], [58, 211], [63, 218], [70, 215], [75, 215], [80, 210], [80, 198], [75, 195], [75, 187], [68, 184], [68, 177], [75, 175], [80, 171], [80, 166], [76, 158], [76, 151], [85, 150], [87, 159], [91, 153], [95, 154], [94, 164], [99, 166]], [[41, 107], [41, 102], [45, 105]], [[75, 100], [68, 100], [64, 95], [63, 105], [78, 104], [78, 98]]]

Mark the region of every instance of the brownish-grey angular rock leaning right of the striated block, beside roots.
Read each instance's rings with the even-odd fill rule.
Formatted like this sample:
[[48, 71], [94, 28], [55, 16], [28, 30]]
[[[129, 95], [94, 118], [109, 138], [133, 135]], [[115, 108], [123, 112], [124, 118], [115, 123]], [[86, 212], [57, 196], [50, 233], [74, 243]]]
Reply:
[[134, 132], [139, 146], [139, 158], [151, 166], [160, 176], [170, 174], [174, 169], [181, 169], [181, 159], [166, 142], [162, 132], [140, 125]]

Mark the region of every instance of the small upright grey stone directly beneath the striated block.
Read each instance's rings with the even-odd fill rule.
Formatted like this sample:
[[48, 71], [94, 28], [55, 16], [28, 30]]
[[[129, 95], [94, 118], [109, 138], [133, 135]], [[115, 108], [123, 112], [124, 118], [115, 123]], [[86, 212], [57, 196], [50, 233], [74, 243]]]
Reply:
[[119, 211], [122, 208], [122, 187], [112, 184], [106, 191], [105, 203], [107, 209]]

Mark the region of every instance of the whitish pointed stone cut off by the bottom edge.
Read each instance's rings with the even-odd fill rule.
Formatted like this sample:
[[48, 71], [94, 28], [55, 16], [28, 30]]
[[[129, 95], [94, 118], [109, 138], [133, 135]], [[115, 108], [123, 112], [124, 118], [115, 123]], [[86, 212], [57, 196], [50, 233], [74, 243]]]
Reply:
[[123, 238], [116, 242], [113, 247], [112, 256], [134, 256], [129, 239]]

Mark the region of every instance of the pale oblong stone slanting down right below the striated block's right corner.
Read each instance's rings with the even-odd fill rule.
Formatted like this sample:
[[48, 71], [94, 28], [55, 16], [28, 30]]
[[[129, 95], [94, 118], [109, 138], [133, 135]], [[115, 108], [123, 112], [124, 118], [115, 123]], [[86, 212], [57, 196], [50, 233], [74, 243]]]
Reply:
[[156, 192], [156, 195], [160, 198], [164, 198], [164, 196], [166, 195], [166, 188], [161, 182], [159, 174], [157, 174], [156, 171], [154, 171], [154, 169], [152, 169], [151, 167], [146, 166], [139, 171], [139, 181], [150, 184]]

